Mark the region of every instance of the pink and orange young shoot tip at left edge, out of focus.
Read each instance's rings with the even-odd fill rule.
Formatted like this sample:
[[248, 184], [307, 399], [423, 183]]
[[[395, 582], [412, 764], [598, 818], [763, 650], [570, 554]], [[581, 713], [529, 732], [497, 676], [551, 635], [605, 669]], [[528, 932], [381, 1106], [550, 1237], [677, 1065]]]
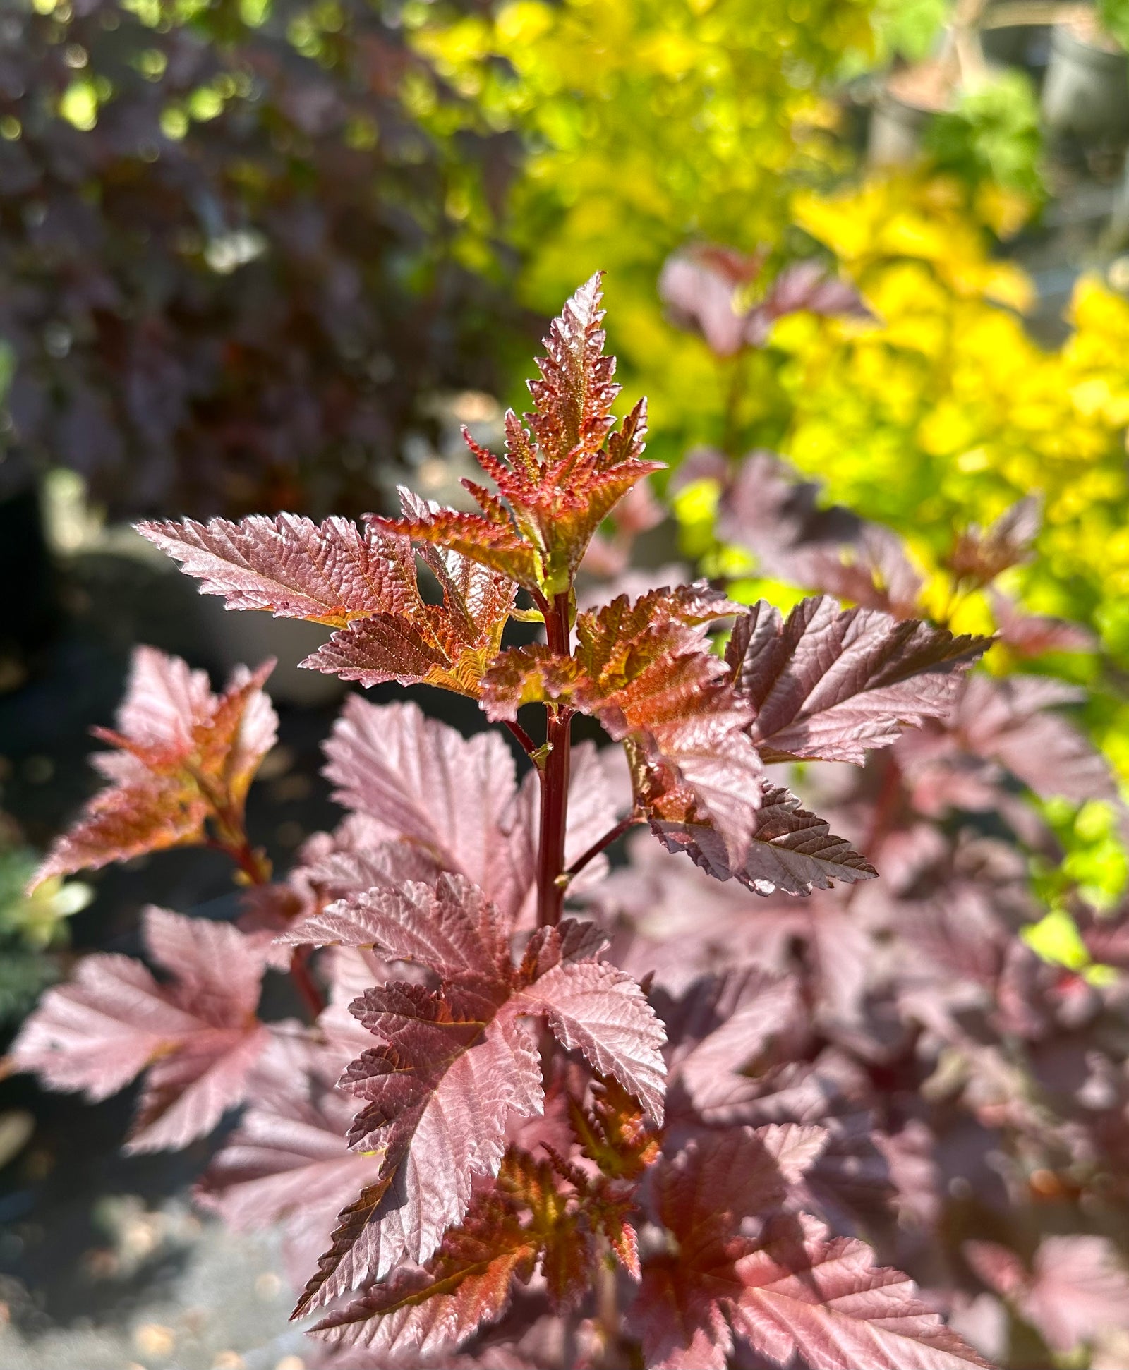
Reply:
[[34, 885], [142, 852], [200, 843], [204, 826], [238, 823], [259, 762], [274, 745], [277, 718], [263, 693], [274, 667], [238, 667], [223, 695], [203, 671], [152, 647], [133, 653], [118, 732], [96, 729], [116, 752], [93, 764], [111, 781], [59, 837]]

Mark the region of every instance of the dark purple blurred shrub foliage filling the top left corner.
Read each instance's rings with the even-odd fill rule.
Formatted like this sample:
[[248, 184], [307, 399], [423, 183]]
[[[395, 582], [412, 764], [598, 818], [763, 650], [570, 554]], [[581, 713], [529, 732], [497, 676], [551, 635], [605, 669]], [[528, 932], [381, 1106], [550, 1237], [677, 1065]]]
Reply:
[[367, 0], [5, 5], [22, 448], [118, 514], [366, 507], [421, 396], [495, 384], [507, 319], [462, 245], [503, 140], [430, 137], [419, 71]]

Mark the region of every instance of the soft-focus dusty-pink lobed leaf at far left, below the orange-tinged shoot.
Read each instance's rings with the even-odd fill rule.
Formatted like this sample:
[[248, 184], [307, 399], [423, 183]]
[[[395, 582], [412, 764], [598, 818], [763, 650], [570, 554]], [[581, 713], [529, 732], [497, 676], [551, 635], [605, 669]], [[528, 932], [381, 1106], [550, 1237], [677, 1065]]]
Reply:
[[269, 1041], [255, 1018], [264, 959], [226, 923], [160, 908], [145, 912], [145, 943], [171, 982], [127, 956], [86, 956], [26, 1021], [12, 1059], [49, 1089], [88, 1099], [149, 1066], [127, 1149], [175, 1149], [245, 1097]]

